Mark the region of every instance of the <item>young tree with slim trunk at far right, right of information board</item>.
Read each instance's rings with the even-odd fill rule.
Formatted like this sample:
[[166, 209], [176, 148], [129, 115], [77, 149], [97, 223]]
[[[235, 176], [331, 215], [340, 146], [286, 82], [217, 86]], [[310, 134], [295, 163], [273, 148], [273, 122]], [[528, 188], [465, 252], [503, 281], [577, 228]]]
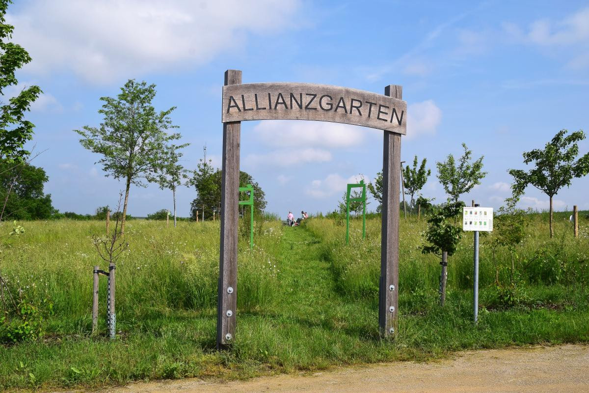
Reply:
[[510, 169], [514, 177], [512, 189], [522, 193], [528, 184], [547, 194], [550, 198], [550, 237], [554, 236], [552, 228], [552, 197], [562, 187], [570, 187], [574, 177], [583, 177], [589, 173], [589, 153], [575, 161], [579, 154], [577, 142], [585, 139], [582, 130], [567, 135], [568, 130], [560, 130], [544, 150], [525, 151], [524, 164], [533, 163], [534, 169], [526, 172], [521, 169]]

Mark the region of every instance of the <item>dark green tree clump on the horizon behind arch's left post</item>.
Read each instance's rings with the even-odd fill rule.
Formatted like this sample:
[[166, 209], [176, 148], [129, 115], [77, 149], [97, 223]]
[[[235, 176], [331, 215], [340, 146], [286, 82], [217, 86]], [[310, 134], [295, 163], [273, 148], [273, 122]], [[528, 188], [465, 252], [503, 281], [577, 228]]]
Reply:
[[[196, 220], [196, 215], [202, 217], [204, 210], [204, 219], [211, 219], [213, 217], [213, 209], [216, 214], [221, 212], [221, 170], [215, 169], [210, 161], [206, 162], [203, 159], [197, 165], [197, 169], [193, 171], [193, 177], [188, 181], [188, 184], [194, 186], [197, 192], [197, 197], [190, 204], [190, 217]], [[254, 189], [254, 214], [263, 213], [266, 209], [266, 194], [262, 187], [255, 181], [247, 172], [239, 172], [239, 186], [245, 187], [247, 184], [252, 184]], [[249, 207], [248, 207], [249, 208]]]

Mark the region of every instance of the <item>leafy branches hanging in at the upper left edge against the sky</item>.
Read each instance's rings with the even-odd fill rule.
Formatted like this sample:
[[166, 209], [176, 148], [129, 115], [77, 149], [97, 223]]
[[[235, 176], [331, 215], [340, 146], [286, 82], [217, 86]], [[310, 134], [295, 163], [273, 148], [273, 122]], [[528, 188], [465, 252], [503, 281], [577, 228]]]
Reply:
[[[14, 31], [5, 18], [10, 3], [0, 0], [0, 95], [4, 95], [6, 87], [18, 85], [16, 70], [31, 62], [21, 45], [7, 42]], [[8, 103], [0, 103], [0, 160], [22, 161], [29, 155], [24, 145], [31, 140], [35, 125], [25, 120], [24, 114], [41, 93], [38, 86], [29, 86], [9, 98]]]

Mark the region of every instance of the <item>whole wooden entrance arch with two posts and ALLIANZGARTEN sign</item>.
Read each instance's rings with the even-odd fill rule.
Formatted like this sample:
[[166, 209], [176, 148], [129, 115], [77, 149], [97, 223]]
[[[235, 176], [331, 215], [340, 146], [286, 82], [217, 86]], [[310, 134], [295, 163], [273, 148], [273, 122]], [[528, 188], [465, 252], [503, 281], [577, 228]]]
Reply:
[[401, 135], [406, 134], [407, 103], [402, 87], [388, 85], [385, 95], [306, 83], [241, 83], [241, 71], [225, 71], [223, 86], [223, 174], [217, 347], [235, 338], [237, 318], [237, 219], [241, 121], [320, 120], [384, 131], [382, 243], [378, 319], [383, 336], [397, 333], [399, 289], [399, 181]]

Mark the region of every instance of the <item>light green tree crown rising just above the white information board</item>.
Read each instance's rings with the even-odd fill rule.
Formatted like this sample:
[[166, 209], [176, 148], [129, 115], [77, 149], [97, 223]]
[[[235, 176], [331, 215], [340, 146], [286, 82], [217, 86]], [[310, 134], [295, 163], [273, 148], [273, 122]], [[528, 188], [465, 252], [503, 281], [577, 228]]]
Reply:
[[452, 154], [448, 154], [446, 161], [436, 163], [438, 180], [454, 202], [458, 202], [459, 197], [472, 190], [472, 187], [481, 184], [481, 179], [487, 175], [487, 172], [482, 171], [483, 156], [471, 163], [472, 151], [468, 150], [465, 143], [462, 143], [462, 147], [464, 153], [458, 161], [458, 166]]

